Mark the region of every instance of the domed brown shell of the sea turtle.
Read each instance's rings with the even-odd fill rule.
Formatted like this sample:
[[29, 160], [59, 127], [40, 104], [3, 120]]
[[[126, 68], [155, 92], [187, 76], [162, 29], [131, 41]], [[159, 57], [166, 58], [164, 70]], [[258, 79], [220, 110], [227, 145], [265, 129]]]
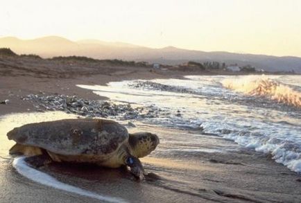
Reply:
[[58, 155], [108, 155], [128, 141], [123, 125], [104, 119], [31, 123], [8, 132], [8, 139]]

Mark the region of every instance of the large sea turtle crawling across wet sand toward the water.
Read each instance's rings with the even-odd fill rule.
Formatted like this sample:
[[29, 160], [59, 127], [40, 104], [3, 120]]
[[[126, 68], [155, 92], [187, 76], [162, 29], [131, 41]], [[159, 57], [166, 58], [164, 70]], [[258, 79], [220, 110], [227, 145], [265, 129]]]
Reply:
[[[129, 166], [135, 177], [144, 179], [138, 158], [149, 155], [159, 138], [149, 132], [128, 134], [123, 125], [105, 119], [64, 119], [15, 127], [8, 139], [16, 141], [10, 154], [51, 161], [92, 163], [109, 168]], [[34, 161], [33, 161], [34, 162]]]

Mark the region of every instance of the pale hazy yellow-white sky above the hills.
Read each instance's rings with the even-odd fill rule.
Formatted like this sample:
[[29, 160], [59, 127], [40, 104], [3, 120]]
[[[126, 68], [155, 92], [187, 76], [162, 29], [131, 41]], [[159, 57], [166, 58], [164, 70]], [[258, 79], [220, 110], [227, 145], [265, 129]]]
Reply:
[[299, 0], [0, 3], [0, 37], [58, 35], [142, 46], [301, 56]]

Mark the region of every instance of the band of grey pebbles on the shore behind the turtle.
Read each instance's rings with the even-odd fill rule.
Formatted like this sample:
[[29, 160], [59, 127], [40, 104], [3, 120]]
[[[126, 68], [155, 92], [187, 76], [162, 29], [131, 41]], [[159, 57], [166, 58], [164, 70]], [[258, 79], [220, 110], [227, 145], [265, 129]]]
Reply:
[[158, 109], [154, 106], [145, 109], [141, 107], [133, 108], [130, 104], [116, 105], [107, 101], [87, 100], [77, 96], [66, 95], [45, 95], [45, 94], [28, 94], [22, 100], [28, 100], [33, 103], [33, 107], [40, 112], [46, 111], [63, 111], [67, 114], [77, 114], [86, 117], [114, 117], [123, 120], [137, 119], [157, 116]]

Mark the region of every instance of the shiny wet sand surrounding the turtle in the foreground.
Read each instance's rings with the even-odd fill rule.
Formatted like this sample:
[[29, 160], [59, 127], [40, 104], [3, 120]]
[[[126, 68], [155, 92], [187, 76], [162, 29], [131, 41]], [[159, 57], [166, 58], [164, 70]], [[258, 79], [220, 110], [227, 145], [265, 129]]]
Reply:
[[[99, 202], [36, 183], [17, 173], [13, 158], [7, 155], [13, 144], [3, 136], [15, 125], [37, 121], [70, 118], [61, 112], [15, 114], [2, 116], [1, 126], [1, 202]], [[24, 118], [25, 121], [22, 121]], [[22, 122], [20, 122], [22, 121]], [[269, 157], [244, 150], [239, 153], [208, 152], [214, 146], [231, 148], [232, 141], [203, 135], [193, 156], [181, 151], [187, 134], [197, 132], [171, 130], [135, 123], [130, 132], [150, 131], [160, 136], [160, 145], [150, 156], [141, 159], [146, 181], [137, 180], [127, 170], [91, 165], [50, 164], [39, 170], [59, 182], [76, 186], [97, 195], [118, 197], [125, 202], [300, 202], [300, 175], [276, 164]], [[192, 146], [191, 146], [192, 147]], [[175, 149], [179, 150], [166, 150]], [[187, 145], [185, 145], [187, 148]], [[5, 158], [5, 159], [3, 159]], [[271, 170], [273, 168], [273, 170]]]

